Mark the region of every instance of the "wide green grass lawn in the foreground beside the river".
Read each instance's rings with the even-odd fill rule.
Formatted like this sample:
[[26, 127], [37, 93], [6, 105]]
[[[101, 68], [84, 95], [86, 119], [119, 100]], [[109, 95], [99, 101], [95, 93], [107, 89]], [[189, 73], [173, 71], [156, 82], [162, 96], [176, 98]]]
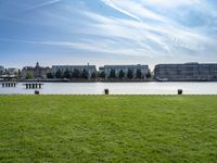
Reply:
[[217, 97], [0, 96], [0, 162], [217, 162]]

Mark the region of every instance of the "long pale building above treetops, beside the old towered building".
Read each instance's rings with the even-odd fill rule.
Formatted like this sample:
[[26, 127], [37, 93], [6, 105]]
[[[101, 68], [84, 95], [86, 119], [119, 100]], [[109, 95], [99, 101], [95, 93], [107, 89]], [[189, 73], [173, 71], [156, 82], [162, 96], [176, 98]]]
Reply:
[[[97, 67], [95, 65], [52, 65], [52, 74], [53, 76], [56, 76], [56, 73], [60, 72], [62, 75], [67, 72], [73, 78], [73, 74], [75, 72], [82, 74], [84, 71], [87, 72], [87, 78], [90, 79], [92, 75], [97, 74]], [[79, 78], [80, 76], [77, 74], [76, 78]]]

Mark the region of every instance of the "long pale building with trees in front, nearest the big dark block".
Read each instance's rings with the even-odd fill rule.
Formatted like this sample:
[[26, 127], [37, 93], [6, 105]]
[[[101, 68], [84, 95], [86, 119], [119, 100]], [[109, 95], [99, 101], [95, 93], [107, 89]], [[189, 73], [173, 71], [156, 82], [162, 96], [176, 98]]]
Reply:
[[[104, 72], [105, 79], [108, 78], [129, 78], [130, 79], [145, 79], [149, 73], [148, 65], [104, 65], [99, 68], [100, 73]], [[131, 75], [130, 75], [131, 74]]]

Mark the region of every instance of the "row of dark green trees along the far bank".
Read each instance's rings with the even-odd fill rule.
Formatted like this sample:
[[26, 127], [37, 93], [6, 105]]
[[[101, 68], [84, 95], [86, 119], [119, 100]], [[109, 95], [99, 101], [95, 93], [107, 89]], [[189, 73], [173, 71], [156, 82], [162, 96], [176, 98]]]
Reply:
[[[104, 79], [105, 73], [101, 72], [101, 73], [92, 73], [89, 74], [87, 70], [84, 71], [79, 71], [79, 70], [74, 70], [73, 72], [69, 72], [68, 70], [66, 70], [65, 72], [61, 72], [61, 70], [59, 70], [55, 74], [52, 73], [48, 73], [47, 74], [48, 78], [84, 78], [84, 79], [88, 79], [88, 78], [102, 78]], [[142, 79], [144, 76], [142, 76], [142, 72], [141, 70], [137, 70], [136, 72], [136, 76], [133, 74], [132, 70], [128, 70], [127, 73], [125, 73], [123, 70], [120, 70], [120, 72], [117, 74], [115, 70], [112, 70], [110, 72], [108, 78], [111, 79], [115, 79], [115, 78], [119, 78], [119, 79], [124, 79], [124, 78], [128, 78], [128, 79], [132, 79], [132, 78], [138, 78], [138, 79]], [[151, 77], [151, 73], [149, 72], [146, 74], [146, 78]]]

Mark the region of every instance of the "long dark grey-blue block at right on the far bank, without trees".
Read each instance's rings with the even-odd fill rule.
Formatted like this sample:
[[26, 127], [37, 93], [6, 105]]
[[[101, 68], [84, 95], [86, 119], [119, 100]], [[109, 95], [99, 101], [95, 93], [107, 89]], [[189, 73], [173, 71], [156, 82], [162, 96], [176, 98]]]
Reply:
[[157, 80], [217, 80], [217, 64], [212, 63], [184, 63], [158, 64], [154, 68]]

